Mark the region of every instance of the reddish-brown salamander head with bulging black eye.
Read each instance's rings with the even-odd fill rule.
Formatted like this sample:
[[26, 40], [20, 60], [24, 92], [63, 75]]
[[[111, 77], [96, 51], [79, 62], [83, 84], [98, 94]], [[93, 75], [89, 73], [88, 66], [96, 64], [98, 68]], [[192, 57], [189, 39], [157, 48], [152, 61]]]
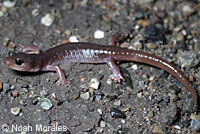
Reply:
[[36, 65], [34, 55], [26, 53], [17, 53], [13, 56], [8, 56], [4, 59], [4, 64], [8, 68], [23, 72], [37, 72], [40, 70], [40, 65]]

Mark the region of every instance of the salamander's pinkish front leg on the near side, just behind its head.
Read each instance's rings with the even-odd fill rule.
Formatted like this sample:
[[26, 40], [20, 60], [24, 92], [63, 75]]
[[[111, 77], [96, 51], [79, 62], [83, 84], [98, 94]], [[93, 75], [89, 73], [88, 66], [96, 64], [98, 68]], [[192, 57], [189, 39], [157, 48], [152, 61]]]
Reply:
[[53, 65], [48, 65], [46, 68], [48, 71], [56, 71], [59, 80], [57, 81], [58, 85], [64, 85], [67, 83], [67, 80], [65, 78], [65, 74], [63, 73], [62, 69], [60, 68], [60, 66], [53, 66]]

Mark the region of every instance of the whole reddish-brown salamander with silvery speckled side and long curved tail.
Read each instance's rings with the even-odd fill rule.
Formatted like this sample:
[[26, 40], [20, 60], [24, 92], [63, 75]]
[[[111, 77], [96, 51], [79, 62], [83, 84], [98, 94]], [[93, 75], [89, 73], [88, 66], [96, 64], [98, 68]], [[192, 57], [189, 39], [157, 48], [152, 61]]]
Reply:
[[[115, 39], [116, 37], [113, 37]], [[62, 63], [107, 63], [112, 74], [110, 80], [121, 82], [124, 80], [120, 69], [115, 64], [120, 61], [134, 61], [149, 64], [161, 68], [171, 75], [192, 94], [194, 106], [197, 107], [198, 97], [195, 89], [187, 80], [185, 75], [178, 70], [170, 62], [154, 56], [152, 54], [121, 48], [115, 45], [113, 39], [109, 40], [109, 45], [98, 45], [93, 43], [67, 43], [48, 49], [46, 52], [40, 52], [36, 46], [25, 46], [23, 51], [33, 51], [34, 54], [19, 52], [13, 56], [8, 56], [4, 59], [4, 63], [8, 68], [25, 71], [55, 71], [59, 76], [58, 84], [65, 84], [66, 78], [60, 68]]]

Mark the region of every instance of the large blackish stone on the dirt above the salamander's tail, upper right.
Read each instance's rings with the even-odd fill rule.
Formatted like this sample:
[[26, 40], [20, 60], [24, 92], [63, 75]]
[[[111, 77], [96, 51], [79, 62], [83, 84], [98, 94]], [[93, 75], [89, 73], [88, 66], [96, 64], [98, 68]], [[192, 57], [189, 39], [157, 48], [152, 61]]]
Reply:
[[164, 33], [161, 28], [158, 28], [154, 25], [149, 25], [144, 31], [144, 37], [147, 42], [164, 42]]

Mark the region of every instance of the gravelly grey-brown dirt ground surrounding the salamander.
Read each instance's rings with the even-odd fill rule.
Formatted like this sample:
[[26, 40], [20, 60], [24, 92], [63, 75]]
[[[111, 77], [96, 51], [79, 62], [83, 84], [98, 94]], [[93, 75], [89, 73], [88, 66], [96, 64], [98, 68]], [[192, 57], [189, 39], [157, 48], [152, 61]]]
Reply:
[[[112, 34], [127, 33], [129, 37], [118, 45], [182, 67], [198, 91], [198, 64], [183, 66], [186, 60], [179, 60], [184, 54], [196, 54], [191, 59], [199, 62], [198, 0], [21, 0], [12, 7], [3, 2], [0, 133], [193, 134], [199, 130], [198, 123], [191, 125], [190, 116], [198, 115], [191, 110], [191, 94], [161, 69], [122, 62], [118, 65], [126, 82], [109, 84], [111, 72], [106, 64], [62, 64], [70, 83], [58, 86], [56, 73], [22, 73], [3, 63], [9, 52], [19, 52], [24, 45], [34, 44], [45, 51], [68, 42], [71, 36], [107, 45]], [[41, 23], [47, 14], [54, 17], [50, 26]], [[97, 30], [104, 32], [103, 38], [94, 38]], [[92, 78], [100, 82], [97, 89], [90, 88]]]

